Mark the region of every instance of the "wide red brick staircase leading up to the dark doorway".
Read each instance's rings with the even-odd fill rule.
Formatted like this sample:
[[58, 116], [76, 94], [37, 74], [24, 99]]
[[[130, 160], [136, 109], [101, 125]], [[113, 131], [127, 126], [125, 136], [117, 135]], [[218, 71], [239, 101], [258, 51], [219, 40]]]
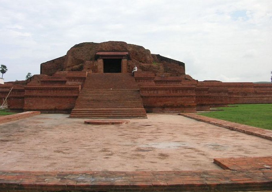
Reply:
[[147, 118], [137, 83], [127, 73], [88, 74], [70, 117]]

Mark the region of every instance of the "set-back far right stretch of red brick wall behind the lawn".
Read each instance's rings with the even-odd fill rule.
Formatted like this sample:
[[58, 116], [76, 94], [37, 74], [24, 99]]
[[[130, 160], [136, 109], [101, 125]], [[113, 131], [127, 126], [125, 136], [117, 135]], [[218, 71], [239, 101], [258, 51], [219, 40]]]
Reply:
[[[208, 88], [208, 94], [202, 90]], [[199, 90], [200, 89], [200, 90]], [[272, 84], [222, 83], [202, 81], [197, 83], [198, 106], [224, 106], [227, 104], [272, 103]]]

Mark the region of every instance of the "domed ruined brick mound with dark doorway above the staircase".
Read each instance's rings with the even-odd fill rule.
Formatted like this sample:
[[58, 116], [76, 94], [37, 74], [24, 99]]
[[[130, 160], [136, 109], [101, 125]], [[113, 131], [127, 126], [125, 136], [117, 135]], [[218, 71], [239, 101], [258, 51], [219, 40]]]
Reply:
[[57, 71], [126, 73], [131, 72], [134, 65], [139, 71], [153, 72], [156, 76], [185, 75], [183, 62], [151, 54], [142, 46], [118, 41], [77, 44], [65, 56], [42, 63], [40, 74], [53, 75]]

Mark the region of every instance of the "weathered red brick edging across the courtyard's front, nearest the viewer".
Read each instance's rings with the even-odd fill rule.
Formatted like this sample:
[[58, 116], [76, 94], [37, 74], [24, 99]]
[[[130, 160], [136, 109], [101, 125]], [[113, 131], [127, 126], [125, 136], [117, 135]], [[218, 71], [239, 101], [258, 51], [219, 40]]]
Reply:
[[7, 172], [0, 191], [248, 191], [272, 187], [271, 170]]

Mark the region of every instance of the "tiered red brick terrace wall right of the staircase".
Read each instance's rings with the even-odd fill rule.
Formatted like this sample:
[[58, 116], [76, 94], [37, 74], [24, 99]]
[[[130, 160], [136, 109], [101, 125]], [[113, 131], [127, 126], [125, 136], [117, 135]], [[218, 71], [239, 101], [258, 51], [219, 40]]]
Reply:
[[135, 73], [144, 107], [150, 112], [193, 112], [243, 103], [272, 103], [272, 84], [222, 83]]

